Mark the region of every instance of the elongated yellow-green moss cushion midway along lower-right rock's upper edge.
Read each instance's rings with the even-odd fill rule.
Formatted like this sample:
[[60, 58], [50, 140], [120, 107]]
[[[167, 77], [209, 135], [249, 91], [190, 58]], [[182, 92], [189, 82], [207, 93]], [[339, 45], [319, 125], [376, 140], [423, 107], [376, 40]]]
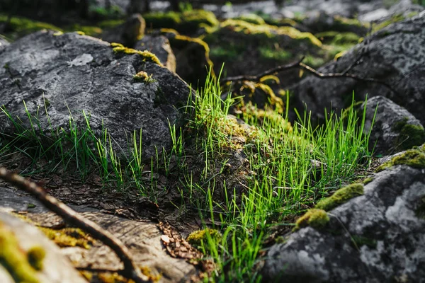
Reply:
[[331, 209], [334, 209], [335, 207], [338, 207], [341, 204], [344, 204], [348, 200], [351, 200], [353, 197], [358, 197], [363, 194], [363, 184], [351, 184], [346, 187], [342, 187], [339, 190], [336, 190], [336, 192], [334, 192], [334, 195], [331, 195], [330, 197], [327, 197], [323, 200], [319, 200], [315, 208], [329, 211]]

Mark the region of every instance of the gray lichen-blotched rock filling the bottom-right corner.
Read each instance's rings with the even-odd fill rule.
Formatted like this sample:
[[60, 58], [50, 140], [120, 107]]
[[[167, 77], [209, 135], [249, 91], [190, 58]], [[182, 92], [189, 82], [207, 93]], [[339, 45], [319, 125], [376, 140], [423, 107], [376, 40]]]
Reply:
[[365, 194], [272, 246], [263, 282], [424, 282], [425, 169], [401, 165], [375, 175]]

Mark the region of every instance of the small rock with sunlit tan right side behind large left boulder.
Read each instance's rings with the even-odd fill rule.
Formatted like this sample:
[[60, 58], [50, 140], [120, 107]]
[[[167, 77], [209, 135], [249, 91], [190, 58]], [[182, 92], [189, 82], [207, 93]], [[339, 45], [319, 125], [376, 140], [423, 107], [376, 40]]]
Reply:
[[145, 35], [135, 44], [137, 50], [147, 50], [157, 55], [159, 61], [169, 69], [176, 72], [176, 57], [171, 50], [170, 42], [164, 35]]

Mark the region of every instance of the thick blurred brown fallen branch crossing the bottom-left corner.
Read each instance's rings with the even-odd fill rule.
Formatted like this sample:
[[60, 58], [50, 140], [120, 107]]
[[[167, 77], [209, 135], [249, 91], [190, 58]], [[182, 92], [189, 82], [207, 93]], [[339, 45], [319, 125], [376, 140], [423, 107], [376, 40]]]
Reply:
[[101, 226], [98, 226], [93, 221], [85, 219], [55, 197], [47, 195], [47, 192], [42, 187], [26, 180], [18, 174], [8, 172], [6, 168], [0, 168], [0, 178], [30, 193], [30, 195], [40, 201], [47, 209], [61, 216], [65, 222], [77, 226], [77, 228], [82, 229], [86, 233], [90, 233], [93, 238], [96, 238], [111, 248], [124, 264], [124, 270], [121, 273], [123, 276], [132, 279], [135, 283], [149, 282], [149, 277], [142, 275], [142, 272], [140, 272], [137, 265], [132, 261], [128, 248], [118, 238], [113, 236], [113, 234], [102, 229]]

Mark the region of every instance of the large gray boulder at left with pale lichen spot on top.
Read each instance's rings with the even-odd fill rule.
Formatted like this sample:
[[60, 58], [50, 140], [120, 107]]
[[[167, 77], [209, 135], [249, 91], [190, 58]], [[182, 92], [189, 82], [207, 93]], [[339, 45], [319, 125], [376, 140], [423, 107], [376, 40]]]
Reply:
[[[69, 129], [72, 113], [78, 127], [91, 129], [101, 137], [102, 124], [115, 139], [117, 148], [128, 149], [126, 135], [142, 129], [145, 157], [157, 148], [169, 149], [171, 125], [182, 122], [179, 108], [186, 105], [189, 86], [168, 69], [140, 54], [113, 52], [108, 42], [67, 33], [41, 31], [8, 45], [0, 57], [0, 105], [13, 117], [25, 118], [26, 102], [32, 115], [40, 110], [43, 132]], [[153, 82], [137, 82], [140, 71], [152, 74]], [[45, 113], [47, 108], [48, 117]], [[0, 115], [0, 132], [16, 131], [6, 115]], [[46, 141], [47, 142], [47, 141]]]

